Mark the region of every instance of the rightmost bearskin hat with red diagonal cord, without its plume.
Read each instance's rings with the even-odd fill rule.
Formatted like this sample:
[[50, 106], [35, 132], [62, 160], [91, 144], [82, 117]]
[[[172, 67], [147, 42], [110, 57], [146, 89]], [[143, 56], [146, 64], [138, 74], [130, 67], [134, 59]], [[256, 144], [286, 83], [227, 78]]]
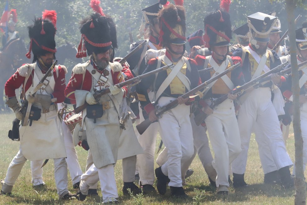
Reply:
[[223, 10], [210, 12], [204, 18], [205, 35], [203, 36], [205, 47], [229, 46], [232, 39], [231, 22], [229, 13]]

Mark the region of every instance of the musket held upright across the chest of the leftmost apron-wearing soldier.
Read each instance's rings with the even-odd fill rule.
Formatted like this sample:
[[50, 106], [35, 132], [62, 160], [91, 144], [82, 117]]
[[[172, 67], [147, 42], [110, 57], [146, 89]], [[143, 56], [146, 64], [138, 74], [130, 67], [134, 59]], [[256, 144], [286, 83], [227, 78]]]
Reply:
[[[57, 60], [50, 66], [50, 68], [47, 70], [46, 74], [44, 77], [40, 80], [39, 84], [34, 88], [33, 91], [29, 93], [32, 97], [35, 95], [35, 93], [42, 87], [42, 86], [47, 86], [49, 83], [49, 80], [47, 80], [47, 77], [51, 77], [52, 75], [51, 72], [53, 71], [54, 67], [57, 64]], [[28, 119], [30, 116], [30, 110], [31, 110], [32, 103], [28, 102], [28, 100], [25, 100], [24, 103], [22, 104], [22, 107], [20, 109], [20, 112], [24, 114], [24, 117], [21, 120], [21, 125], [22, 126], [27, 126], [28, 124]], [[26, 108], [26, 109], [25, 109]], [[26, 110], [24, 112], [24, 110]]]

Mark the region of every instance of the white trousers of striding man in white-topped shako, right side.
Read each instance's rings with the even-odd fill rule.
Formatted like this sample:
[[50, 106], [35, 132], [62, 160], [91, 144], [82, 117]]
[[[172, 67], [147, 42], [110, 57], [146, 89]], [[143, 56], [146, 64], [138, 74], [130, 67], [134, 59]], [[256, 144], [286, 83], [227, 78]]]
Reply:
[[250, 92], [239, 111], [238, 125], [242, 151], [233, 161], [233, 173], [245, 173], [250, 135], [255, 122], [263, 132], [261, 137], [267, 139], [277, 169], [293, 165], [283, 142], [277, 113], [271, 101], [271, 90], [260, 87]]

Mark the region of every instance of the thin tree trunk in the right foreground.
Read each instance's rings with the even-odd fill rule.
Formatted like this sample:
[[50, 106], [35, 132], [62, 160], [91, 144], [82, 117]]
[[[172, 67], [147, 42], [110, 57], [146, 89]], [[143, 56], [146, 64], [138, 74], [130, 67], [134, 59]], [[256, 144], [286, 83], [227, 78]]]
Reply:
[[293, 94], [293, 130], [295, 140], [295, 205], [306, 204], [306, 188], [303, 169], [303, 138], [300, 126], [299, 110], [299, 71], [296, 58], [294, 9], [297, 0], [286, 0], [287, 21], [291, 54], [292, 94]]

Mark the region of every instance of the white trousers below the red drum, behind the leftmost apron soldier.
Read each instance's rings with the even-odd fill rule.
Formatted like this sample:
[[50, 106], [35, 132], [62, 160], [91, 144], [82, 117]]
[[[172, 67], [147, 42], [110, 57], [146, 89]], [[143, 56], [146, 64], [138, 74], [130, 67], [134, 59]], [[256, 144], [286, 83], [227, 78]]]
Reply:
[[[82, 170], [78, 161], [78, 156], [76, 149], [73, 145], [73, 136], [68, 129], [67, 125], [64, 121], [62, 121], [62, 128], [64, 133], [64, 144], [66, 149], [67, 158], [66, 163], [69, 170], [69, 174], [73, 185], [80, 181]], [[44, 160], [35, 160], [31, 161], [31, 175], [32, 175], [32, 183], [34, 186], [44, 184], [43, 181], [43, 169], [40, 169]]]

